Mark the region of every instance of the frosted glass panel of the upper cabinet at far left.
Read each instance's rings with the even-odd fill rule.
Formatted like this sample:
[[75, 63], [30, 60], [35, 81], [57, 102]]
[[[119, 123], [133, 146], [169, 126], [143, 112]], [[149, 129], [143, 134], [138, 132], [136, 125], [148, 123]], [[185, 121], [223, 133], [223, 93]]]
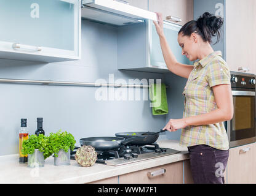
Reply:
[[0, 31], [3, 41], [74, 50], [73, 3], [60, 0], [0, 1], [0, 15], [0, 23], [4, 26]]

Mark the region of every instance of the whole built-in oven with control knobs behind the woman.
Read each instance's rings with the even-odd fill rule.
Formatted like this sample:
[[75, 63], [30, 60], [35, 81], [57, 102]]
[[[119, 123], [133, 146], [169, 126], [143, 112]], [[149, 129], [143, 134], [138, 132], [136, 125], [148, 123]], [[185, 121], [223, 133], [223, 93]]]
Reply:
[[226, 122], [230, 147], [256, 141], [255, 83], [254, 74], [231, 72], [234, 115]]

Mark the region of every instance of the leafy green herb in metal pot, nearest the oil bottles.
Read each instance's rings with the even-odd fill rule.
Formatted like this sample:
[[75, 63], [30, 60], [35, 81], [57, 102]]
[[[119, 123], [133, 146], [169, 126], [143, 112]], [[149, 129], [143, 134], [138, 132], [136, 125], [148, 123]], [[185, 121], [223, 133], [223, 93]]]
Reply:
[[44, 167], [44, 159], [50, 156], [48, 139], [40, 134], [29, 135], [28, 140], [22, 143], [22, 153], [28, 154], [28, 167]]

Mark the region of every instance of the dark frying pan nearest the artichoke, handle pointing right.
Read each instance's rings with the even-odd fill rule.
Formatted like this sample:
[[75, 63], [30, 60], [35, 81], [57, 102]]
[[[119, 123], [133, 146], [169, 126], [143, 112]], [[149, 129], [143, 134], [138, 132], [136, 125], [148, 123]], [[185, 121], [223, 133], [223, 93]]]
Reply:
[[[151, 136], [150, 136], [151, 137]], [[136, 145], [143, 145], [148, 137], [87, 137], [81, 138], [79, 143], [81, 146], [92, 146], [99, 151], [108, 151], [111, 149], [118, 149], [122, 145], [135, 143]], [[145, 140], [145, 141], [144, 141]], [[157, 139], [156, 139], [157, 140]], [[146, 142], [148, 143], [148, 142]], [[150, 144], [150, 143], [148, 143]]]

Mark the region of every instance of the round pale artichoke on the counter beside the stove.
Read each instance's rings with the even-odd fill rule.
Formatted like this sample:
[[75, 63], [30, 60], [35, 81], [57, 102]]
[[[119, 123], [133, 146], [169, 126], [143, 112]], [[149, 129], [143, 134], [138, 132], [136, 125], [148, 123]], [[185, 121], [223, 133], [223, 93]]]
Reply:
[[90, 167], [95, 164], [98, 153], [92, 146], [82, 146], [77, 149], [74, 158], [82, 167]]

